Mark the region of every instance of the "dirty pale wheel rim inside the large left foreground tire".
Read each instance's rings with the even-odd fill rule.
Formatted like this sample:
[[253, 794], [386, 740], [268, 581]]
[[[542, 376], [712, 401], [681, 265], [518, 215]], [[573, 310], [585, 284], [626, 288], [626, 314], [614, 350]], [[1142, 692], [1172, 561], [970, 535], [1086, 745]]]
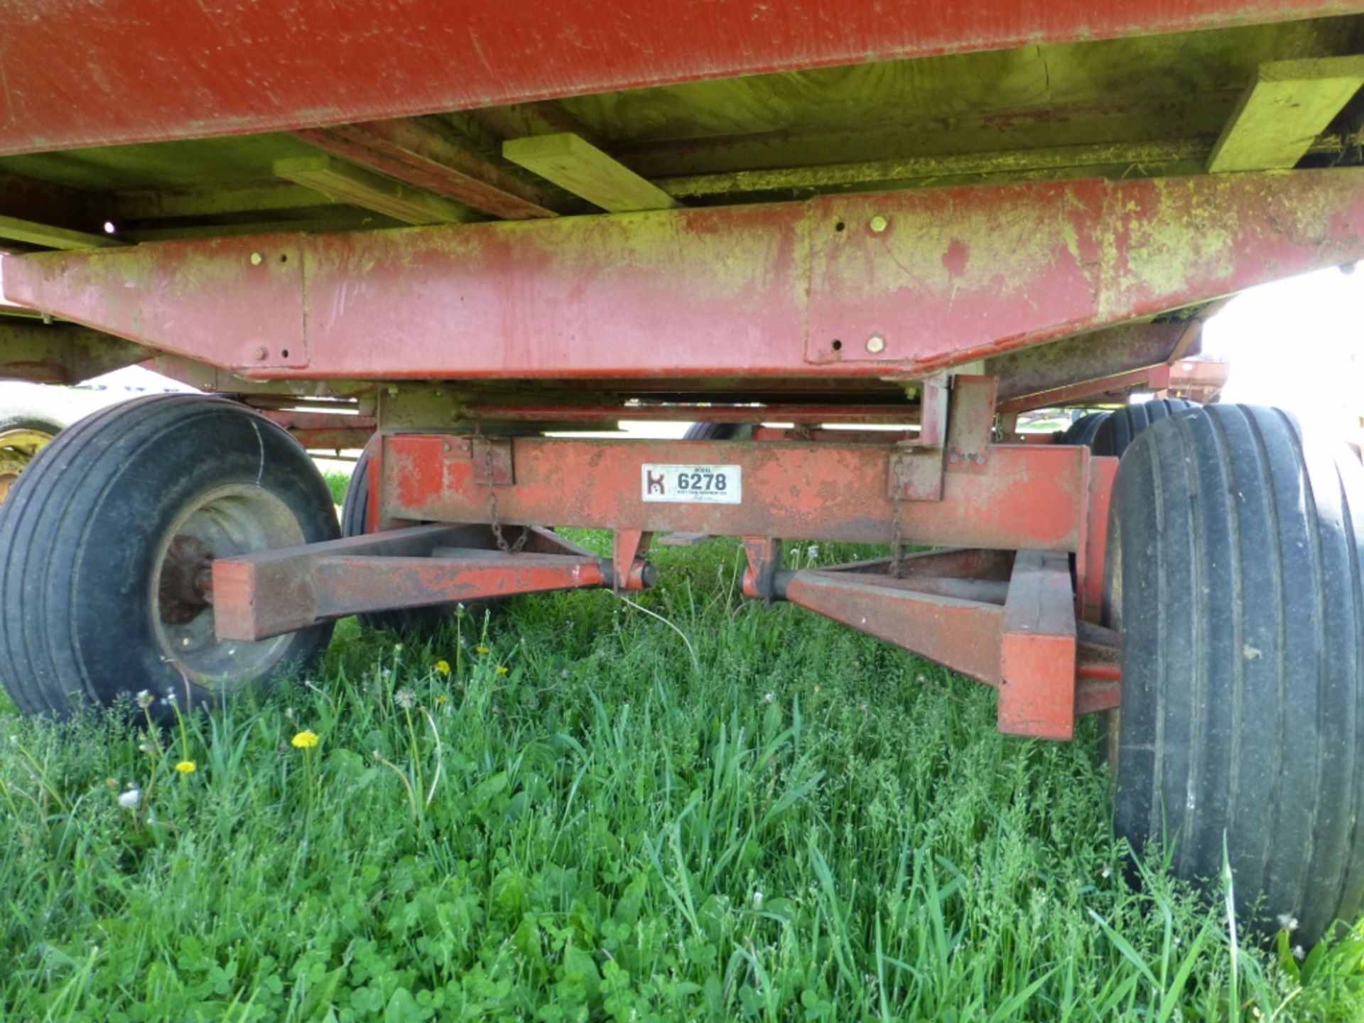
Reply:
[[232, 687], [266, 674], [292, 636], [258, 642], [217, 638], [213, 561], [306, 542], [297, 517], [274, 494], [251, 484], [211, 490], [162, 533], [151, 580], [151, 617], [161, 649], [188, 681]]

